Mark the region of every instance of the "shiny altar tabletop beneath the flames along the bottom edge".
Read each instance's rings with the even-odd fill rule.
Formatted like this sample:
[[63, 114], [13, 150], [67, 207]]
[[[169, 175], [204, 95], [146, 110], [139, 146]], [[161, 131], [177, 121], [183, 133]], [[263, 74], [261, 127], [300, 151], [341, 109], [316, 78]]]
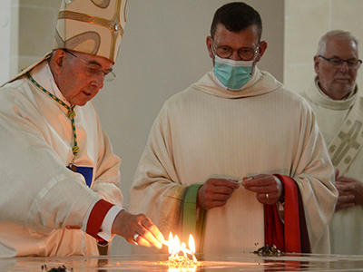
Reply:
[[235, 256], [196, 256], [201, 266], [172, 268], [162, 264], [169, 255], [103, 257], [0, 258], [0, 271], [363, 271], [363, 256], [285, 254], [262, 257], [253, 253]]

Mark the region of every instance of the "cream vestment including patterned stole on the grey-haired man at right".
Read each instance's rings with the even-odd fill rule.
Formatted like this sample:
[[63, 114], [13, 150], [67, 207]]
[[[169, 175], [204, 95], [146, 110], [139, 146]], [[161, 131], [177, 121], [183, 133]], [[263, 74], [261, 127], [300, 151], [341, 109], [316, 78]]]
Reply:
[[[316, 112], [320, 131], [329, 146], [333, 164], [339, 169], [339, 176], [362, 181], [363, 97], [359, 96], [358, 87], [356, 86], [347, 99], [335, 101], [320, 90], [318, 79], [315, 78], [302, 95]], [[338, 141], [337, 148], [334, 148], [331, 143], [336, 135], [341, 141]], [[344, 139], [350, 141], [343, 141]], [[343, 165], [343, 168], [340, 165]], [[361, 205], [336, 211], [329, 224], [331, 253], [363, 254], [362, 227]]]

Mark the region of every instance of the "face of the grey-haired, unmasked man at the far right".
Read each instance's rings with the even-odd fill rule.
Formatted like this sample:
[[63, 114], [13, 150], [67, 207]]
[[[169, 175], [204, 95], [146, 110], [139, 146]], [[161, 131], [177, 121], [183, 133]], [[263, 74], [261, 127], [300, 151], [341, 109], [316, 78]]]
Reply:
[[[329, 39], [326, 58], [338, 57], [343, 60], [358, 60], [358, 47], [352, 41], [339, 40], [336, 37]], [[348, 68], [347, 63], [343, 63], [340, 68], [332, 68], [329, 62], [319, 56], [314, 57], [315, 73], [319, 77], [319, 86], [323, 92], [334, 100], [340, 100], [348, 96], [353, 91], [358, 69]]]

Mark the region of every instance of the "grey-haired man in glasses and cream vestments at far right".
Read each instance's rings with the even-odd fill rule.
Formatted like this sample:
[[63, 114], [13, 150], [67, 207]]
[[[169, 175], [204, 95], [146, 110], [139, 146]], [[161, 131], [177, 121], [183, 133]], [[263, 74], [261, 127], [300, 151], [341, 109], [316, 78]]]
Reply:
[[356, 83], [358, 38], [324, 34], [314, 56], [314, 81], [303, 94], [317, 115], [336, 169], [338, 202], [330, 223], [331, 253], [363, 254], [363, 99]]

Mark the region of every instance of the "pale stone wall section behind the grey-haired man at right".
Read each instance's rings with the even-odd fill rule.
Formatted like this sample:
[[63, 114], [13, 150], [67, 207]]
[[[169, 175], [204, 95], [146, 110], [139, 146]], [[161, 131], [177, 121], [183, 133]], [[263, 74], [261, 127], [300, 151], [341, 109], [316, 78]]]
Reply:
[[[284, 83], [291, 91], [309, 88], [315, 76], [313, 57], [319, 39], [329, 30], [356, 34], [362, 52], [362, 4], [362, 0], [285, 0]], [[363, 77], [358, 75], [357, 83], [363, 86]]]

